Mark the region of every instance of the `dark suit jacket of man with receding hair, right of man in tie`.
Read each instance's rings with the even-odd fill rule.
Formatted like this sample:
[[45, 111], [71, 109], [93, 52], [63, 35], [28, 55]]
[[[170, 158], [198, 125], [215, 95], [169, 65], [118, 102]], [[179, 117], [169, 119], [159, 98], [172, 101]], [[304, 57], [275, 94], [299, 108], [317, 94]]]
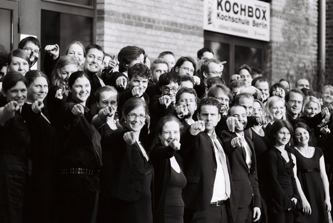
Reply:
[[237, 194], [237, 203], [239, 208], [248, 207], [254, 197], [254, 207], [261, 208], [259, 184], [256, 166], [256, 153], [253, 141], [250, 139], [248, 130], [244, 131], [244, 138], [252, 151], [252, 166], [248, 169], [245, 162], [245, 150], [241, 147], [232, 147], [231, 140], [237, 137], [235, 132], [223, 130], [220, 135], [223, 141], [223, 149], [230, 160], [231, 173], [235, 192]]

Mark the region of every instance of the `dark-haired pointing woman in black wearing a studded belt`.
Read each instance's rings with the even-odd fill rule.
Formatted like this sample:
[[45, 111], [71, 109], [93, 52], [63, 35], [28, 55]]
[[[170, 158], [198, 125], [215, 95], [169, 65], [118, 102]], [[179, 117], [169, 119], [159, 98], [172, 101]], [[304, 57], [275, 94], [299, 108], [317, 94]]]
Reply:
[[100, 192], [100, 135], [86, 107], [91, 85], [88, 75], [76, 71], [68, 79], [67, 103], [60, 109], [58, 140], [59, 222], [95, 222], [93, 213]]

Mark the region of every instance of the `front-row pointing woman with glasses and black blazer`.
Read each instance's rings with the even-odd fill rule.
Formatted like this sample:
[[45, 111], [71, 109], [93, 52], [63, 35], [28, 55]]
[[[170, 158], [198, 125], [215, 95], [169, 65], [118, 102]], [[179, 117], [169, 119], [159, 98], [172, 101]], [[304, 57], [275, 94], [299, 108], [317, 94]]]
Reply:
[[[114, 179], [110, 181], [110, 212], [114, 222], [152, 223], [151, 183], [153, 165], [149, 158], [150, 142], [142, 134], [148, 107], [132, 97], [124, 104], [122, 116], [125, 127], [111, 133], [106, 140], [111, 153]], [[108, 221], [108, 222], [109, 222]]]

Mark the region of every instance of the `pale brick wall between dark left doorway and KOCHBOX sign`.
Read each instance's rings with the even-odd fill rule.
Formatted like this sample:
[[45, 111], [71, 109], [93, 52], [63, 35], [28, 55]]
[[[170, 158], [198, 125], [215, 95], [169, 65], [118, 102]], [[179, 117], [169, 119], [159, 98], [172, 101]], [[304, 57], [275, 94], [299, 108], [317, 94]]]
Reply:
[[172, 51], [176, 59], [203, 47], [201, 0], [97, 0], [97, 44], [117, 54], [128, 45], [149, 57]]

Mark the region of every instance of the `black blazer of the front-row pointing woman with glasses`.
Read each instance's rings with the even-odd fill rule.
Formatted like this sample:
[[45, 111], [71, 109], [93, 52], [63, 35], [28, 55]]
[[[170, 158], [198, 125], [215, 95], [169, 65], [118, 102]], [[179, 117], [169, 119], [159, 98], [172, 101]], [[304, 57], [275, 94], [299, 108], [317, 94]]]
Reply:
[[[116, 197], [128, 202], [135, 202], [138, 201], [141, 196], [145, 165], [147, 165], [148, 162], [144, 158], [137, 143], [128, 145], [123, 140], [123, 135], [129, 131], [130, 130], [127, 128], [118, 129], [105, 139], [105, 143], [109, 145], [109, 147], [103, 148], [103, 156], [109, 156], [109, 153], [111, 153], [114, 179], [110, 179], [113, 185], [104, 187], [105, 191], [103, 191], [103, 193], [106, 196]], [[140, 141], [143, 144], [143, 148], [149, 148], [147, 143], [144, 143], [142, 136], [144, 136], [144, 134], [140, 134]]]

